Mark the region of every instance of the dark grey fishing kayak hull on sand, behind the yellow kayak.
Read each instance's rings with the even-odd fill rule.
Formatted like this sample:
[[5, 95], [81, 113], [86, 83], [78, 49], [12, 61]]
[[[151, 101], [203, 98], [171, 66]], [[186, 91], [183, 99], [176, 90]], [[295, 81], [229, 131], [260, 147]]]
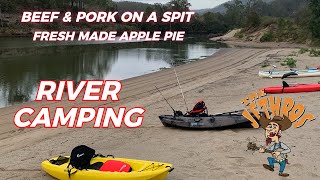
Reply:
[[242, 116], [242, 112], [243, 110], [206, 116], [162, 115], [159, 118], [166, 127], [189, 129], [216, 129], [235, 125], [250, 125], [251, 122]]

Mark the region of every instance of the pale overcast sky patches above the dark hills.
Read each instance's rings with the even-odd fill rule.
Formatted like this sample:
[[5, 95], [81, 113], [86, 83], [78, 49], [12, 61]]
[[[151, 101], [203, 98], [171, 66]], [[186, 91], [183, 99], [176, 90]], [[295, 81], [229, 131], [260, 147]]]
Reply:
[[[115, 0], [115, 1], [121, 1], [121, 0]], [[167, 3], [170, 0], [126, 0], [126, 1], [136, 1], [136, 2], [153, 4], [153, 3]], [[191, 3], [192, 5], [191, 9], [195, 10], [195, 9], [213, 8], [227, 1], [229, 0], [189, 0], [189, 3]]]

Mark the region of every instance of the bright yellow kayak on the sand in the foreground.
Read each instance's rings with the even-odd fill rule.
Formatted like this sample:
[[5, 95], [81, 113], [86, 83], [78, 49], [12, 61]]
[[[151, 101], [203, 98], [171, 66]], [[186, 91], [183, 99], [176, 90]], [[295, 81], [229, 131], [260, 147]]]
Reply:
[[[117, 160], [128, 163], [131, 166], [132, 171], [103, 172], [93, 169], [78, 170], [69, 178], [67, 168], [69, 156], [64, 157], [66, 158], [66, 161], [61, 165], [51, 163], [52, 160], [57, 160], [58, 157], [43, 161], [41, 163], [42, 169], [51, 176], [61, 180], [162, 180], [166, 179], [168, 173], [173, 170], [172, 165], [168, 163], [113, 157], [95, 157], [91, 160], [90, 164], [106, 162], [107, 160]], [[76, 170], [74, 169], [72, 171], [74, 172]]]

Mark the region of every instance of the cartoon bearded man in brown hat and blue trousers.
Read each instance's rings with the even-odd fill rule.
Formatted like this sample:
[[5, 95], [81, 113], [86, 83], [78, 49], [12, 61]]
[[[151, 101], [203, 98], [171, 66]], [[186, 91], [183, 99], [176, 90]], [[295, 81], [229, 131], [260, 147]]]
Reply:
[[272, 120], [261, 116], [260, 125], [265, 129], [266, 145], [260, 148], [260, 153], [271, 153], [272, 157], [268, 157], [269, 164], [263, 164], [263, 167], [274, 171], [274, 164], [280, 164], [279, 176], [287, 177], [288, 173], [284, 173], [286, 164], [288, 164], [287, 154], [291, 152], [290, 148], [283, 142], [280, 142], [281, 132], [291, 127], [292, 122], [287, 117], [275, 116]]

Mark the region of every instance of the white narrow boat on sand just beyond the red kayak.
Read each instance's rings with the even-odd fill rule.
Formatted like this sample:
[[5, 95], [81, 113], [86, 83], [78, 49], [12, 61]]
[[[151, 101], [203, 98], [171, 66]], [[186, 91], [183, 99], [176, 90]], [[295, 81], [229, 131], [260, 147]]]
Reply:
[[317, 77], [320, 76], [319, 69], [309, 69], [309, 70], [290, 70], [290, 71], [259, 71], [260, 77], [265, 78], [282, 78], [284, 75], [290, 74], [292, 78], [297, 77]]

